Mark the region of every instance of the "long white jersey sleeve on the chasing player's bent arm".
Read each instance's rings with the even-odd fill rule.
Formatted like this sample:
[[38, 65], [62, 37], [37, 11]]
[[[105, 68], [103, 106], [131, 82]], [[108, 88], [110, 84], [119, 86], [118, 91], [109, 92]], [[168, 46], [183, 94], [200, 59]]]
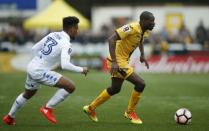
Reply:
[[70, 62], [72, 48], [70, 46], [63, 47], [61, 50], [61, 67], [62, 69], [71, 70], [75, 72], [83, 72], [83, 68], [75, 66]]

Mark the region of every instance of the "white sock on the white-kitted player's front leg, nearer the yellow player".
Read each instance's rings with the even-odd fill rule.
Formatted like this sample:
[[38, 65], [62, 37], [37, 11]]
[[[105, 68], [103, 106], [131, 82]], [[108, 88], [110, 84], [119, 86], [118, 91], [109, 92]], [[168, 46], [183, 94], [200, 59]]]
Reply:
[[48, 101], [46, 104], [47, 108], [54, 108], [57, 104], [64, 101], [65, 98], [69, 95], [69, 92], [67, 92], [65, 89], [59, 89], [54, 96]]

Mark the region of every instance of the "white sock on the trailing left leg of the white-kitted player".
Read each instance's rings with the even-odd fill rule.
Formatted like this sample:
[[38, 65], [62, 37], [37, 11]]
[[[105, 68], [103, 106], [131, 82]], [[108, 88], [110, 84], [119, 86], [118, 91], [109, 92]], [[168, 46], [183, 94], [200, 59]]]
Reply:
[[27, 99], [23, 97], [23, 93], [20, 94], [20, 95], [16, 98], [16, 100], [15, 100], [15, 102], [13, 103], [12, 108], [10, 109], [10, 111], [9, 111], [8, 114], [9, 114], [12, 118], [15, 118], [15, 114], [16, 114], [17, 110], [20, 109], [20, 108], [25, 104], [26, 101], [27, 101]]

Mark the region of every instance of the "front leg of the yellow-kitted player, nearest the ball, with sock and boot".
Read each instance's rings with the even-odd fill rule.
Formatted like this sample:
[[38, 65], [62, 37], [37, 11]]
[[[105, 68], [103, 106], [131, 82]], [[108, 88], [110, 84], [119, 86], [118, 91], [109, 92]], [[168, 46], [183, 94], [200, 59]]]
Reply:
[[145, 82], [144, 80], [139, 77], [136, 73], [132, 73], [127, 80], [135, 85], [131, 98], [128, 103], [128, 109], [125, 112], [125, 116], [131, 119], [132, 123], [135, 124], [142, 124], [142, 121], [138, 118], [137, 114], [135, 113], [136, 105], [140, 99], [140, 95], [143, 92], [145, 88]]

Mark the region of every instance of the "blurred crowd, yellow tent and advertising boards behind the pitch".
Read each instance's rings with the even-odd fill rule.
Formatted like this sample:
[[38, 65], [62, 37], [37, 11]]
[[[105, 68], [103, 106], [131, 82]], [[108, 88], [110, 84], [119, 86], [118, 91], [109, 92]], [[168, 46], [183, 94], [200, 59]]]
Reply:
[[138, 21], [142, 11], [155, 16], [145, 40], [147, 70], [137, 49], [130, 64], [137, 72], [209, 73], [209, 4], [205, 0], [0, 0], [0, 72], [24, 71], [31, 47], [62, 18], [80, 19], [72, 62], [107, 72], [107, 38], [118, 27]]

